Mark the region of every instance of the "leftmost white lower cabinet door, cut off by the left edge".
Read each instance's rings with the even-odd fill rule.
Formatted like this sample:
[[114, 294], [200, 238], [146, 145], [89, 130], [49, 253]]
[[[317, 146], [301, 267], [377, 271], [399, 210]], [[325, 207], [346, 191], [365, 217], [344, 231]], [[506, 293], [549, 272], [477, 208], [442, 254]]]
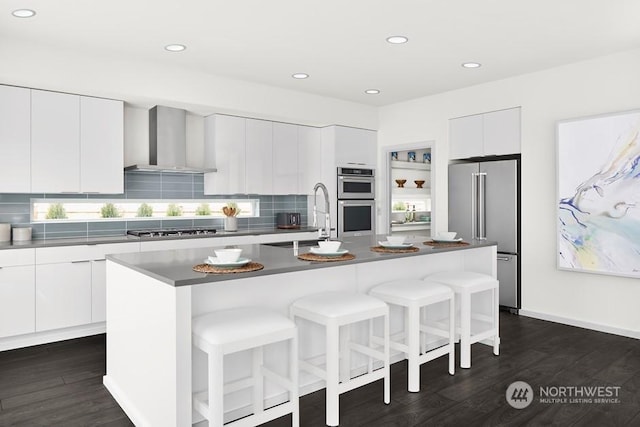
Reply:
[[35, 267], [0, 268], [0, 337], [36, 330]]

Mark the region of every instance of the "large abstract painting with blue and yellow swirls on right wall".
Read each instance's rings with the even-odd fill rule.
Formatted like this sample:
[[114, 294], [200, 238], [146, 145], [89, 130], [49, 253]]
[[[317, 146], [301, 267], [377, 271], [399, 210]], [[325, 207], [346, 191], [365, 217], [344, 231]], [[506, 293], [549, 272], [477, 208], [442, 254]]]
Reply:
[[557, 125], [558, 268], [640, 277], [640, 111]]

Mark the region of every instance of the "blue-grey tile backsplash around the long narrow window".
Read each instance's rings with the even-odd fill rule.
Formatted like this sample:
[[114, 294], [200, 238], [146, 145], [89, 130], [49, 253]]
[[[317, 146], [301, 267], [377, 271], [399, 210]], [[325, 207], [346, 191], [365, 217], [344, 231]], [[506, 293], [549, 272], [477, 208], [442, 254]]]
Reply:
[[123, 194], [3, 194], [0, 193], [0, 222], [13, 226], [33, 227], [34, 239], [66, 237], [99, 237], [123, 235], [127, 230], [168, 227], [223, 228], [221, 218], [193, 220], [149, 220], [73, 222], [64, 224], [31, 224], [31, 199], [260, 199], [260, 217], [239, 218], [239, 229], [259, 229], [275, 226], [276, 213], [300, 212], [302, 224], [307, 224], [307, 196], [264, 195], [204, 195], [204, 176], [201, 174], [127, 171]]

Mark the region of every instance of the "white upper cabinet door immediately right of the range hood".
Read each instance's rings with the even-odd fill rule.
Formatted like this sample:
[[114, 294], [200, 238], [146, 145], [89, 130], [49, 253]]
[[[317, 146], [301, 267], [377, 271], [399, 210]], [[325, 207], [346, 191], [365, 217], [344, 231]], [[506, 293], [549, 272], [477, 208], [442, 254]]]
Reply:
[[218, 169], [204, 177], [204, 194], [245, 193], [245, 129], [242, 117], [205, 117], [205, 164]]

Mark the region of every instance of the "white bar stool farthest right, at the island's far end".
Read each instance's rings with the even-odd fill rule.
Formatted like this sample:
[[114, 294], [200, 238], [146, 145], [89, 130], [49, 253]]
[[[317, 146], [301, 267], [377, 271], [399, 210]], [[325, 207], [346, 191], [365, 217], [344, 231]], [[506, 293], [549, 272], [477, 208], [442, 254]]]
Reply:
[[[443, 271], [424, 278], [449, 286], [459, 301], [457, 331], [460, 334], [460, 367], [471, 367], [471, 344], [492, 339], [493, 354], [500, 354], [499, 282], [487, 274], [472, 271]], [[491, 304], [485, 312], [472, 311], [474, 294], [491, 292]]]

